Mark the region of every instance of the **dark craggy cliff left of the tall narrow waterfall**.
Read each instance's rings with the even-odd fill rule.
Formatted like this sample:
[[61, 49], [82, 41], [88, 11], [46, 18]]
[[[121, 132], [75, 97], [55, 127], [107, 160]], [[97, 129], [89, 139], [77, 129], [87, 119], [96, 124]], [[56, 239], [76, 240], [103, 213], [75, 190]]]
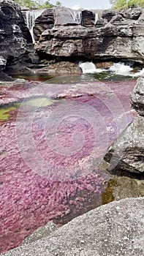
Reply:
[[[26, 42], [31, 42], [29, 29], [17, 4], [0, 1], [0, 74], [7, 65], [20, 67], [26, 59]], [[0, 78], [0, 79], [1, 79]]]

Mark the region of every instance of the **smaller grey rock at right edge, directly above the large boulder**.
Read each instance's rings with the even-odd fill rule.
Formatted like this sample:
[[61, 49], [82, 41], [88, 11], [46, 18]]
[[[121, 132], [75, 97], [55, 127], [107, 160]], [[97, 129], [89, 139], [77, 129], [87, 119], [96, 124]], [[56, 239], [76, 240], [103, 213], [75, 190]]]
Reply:
[[[140, 116], [144, 116], [144, 78], [138, 78], [131, 95], [132, 107]], [[144, 120], [143, 120], [144, 121]]]

